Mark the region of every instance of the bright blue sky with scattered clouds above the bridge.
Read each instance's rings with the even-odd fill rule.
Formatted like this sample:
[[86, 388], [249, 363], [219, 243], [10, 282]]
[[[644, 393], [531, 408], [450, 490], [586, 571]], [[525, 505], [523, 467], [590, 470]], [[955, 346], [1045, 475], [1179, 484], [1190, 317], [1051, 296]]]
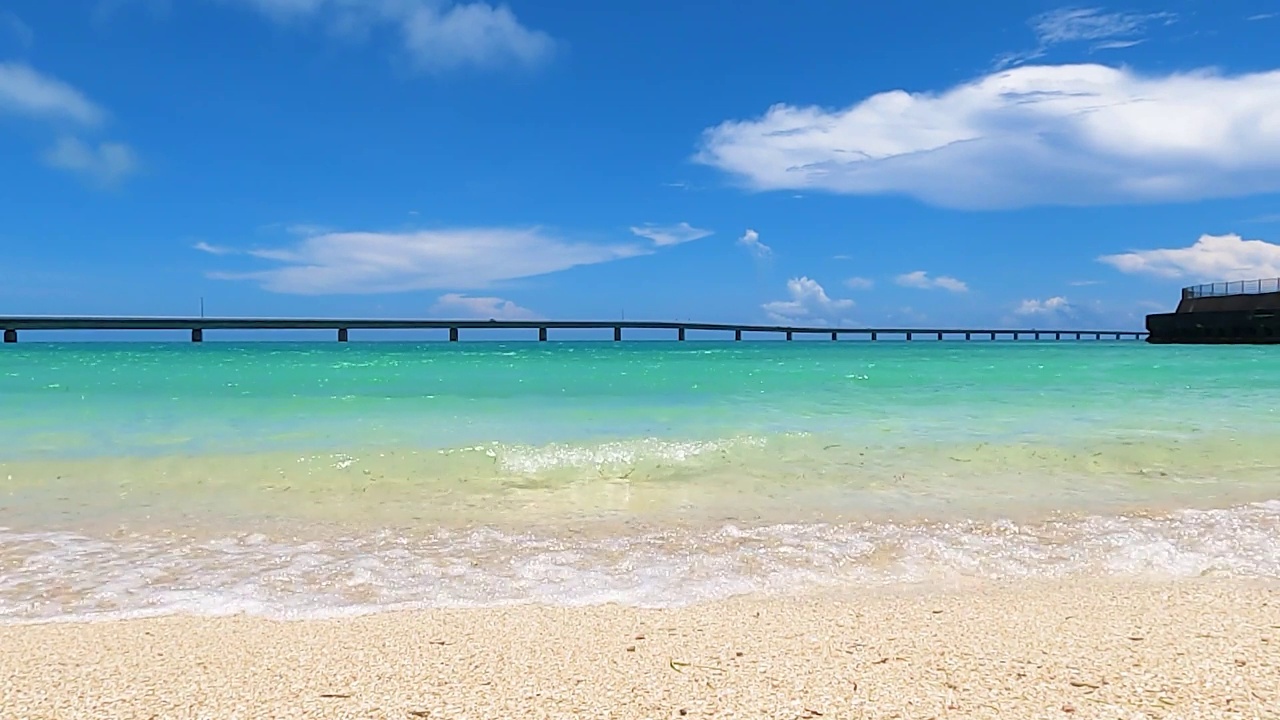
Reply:
[[0, 0], [0, 315], [1140, 329], [1280, 277], [1280, 5]]

